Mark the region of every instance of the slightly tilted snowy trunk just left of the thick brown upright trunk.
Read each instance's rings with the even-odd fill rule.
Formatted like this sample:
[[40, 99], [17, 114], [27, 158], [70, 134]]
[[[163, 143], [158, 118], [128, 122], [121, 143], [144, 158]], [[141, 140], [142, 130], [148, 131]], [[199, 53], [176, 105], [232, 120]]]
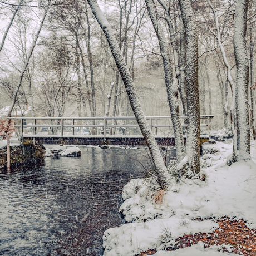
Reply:
[[[181, 161], [185, 156], [185, 146], [183, 139], [183, 132], [180, 122], [180, 111], [179, 111], [179, 101], [178, 101], [178, 85], [176, 80], [173, 78], [173, 70], [171, 68], [171, 58], [169, 52], [168, 42], [161, 29], [160, 23], [157, 20], [157, 14], [155, 11], [155, 6], [153, 0], [145, 0], [147, 11], [149, 12], [150, 19], [152, 21], [153, 27], [155, 29], [159, 45], [161, 56], [164, 63], [164, 73], [165, 73], [165, 86], [168, 95], [168, 103], [171, 111], [171, 120], [173, 121], [173, 129], [175, 136], [175, 146], [176, 146], [176, 157], [178, 161]], [[177, 56], [178, 65], [178, 56]]]

